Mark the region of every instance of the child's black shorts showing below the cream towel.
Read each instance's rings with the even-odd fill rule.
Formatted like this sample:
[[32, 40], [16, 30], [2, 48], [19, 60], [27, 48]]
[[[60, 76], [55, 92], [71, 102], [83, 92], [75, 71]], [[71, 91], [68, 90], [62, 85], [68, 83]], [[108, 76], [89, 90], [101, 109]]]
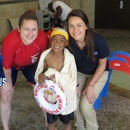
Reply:
[[54, 123], [57, 119], [60, 119], [60, 121], [64, 124], [68, 124], [70, 122], [70, 120], [74, 120], [74, 112], [68, 114], [68, 115], [52, 115], [47, 113], [47, 122], [48, 124], [52, 124]]

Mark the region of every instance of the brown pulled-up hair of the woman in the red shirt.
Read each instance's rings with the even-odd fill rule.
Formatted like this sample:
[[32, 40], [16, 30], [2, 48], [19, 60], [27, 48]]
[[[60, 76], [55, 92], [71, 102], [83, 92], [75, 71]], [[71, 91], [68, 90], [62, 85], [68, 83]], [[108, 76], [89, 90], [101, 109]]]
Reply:
[[21, 15], [20, 19], [19, 19], [19, 27], [21, 27], [21, 25], [23, 24], [23, 20], [34, 20], [37, 22], [38, 24], [38, 18], [36, 16], [36, 11], [34, 9], [29, 9], [27, 11], [24, 12], [23, 15]]

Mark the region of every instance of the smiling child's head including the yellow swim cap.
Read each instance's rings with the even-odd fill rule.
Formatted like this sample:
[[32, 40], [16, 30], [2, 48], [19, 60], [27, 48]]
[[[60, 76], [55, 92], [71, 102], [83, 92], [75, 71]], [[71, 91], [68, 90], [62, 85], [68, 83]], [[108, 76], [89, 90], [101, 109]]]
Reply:
[[62, 28], [54, 28], [50, 35], [50, 44], [53, 49], [64, 49], [64, 47], [68, 45], [67, 31]]

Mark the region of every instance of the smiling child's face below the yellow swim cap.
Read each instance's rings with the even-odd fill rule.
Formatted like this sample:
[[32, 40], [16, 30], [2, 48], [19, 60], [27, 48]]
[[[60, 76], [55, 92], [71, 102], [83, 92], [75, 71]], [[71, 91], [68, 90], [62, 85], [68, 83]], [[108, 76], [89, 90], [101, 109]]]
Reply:
[[68, 45], [68, 41], [66, 40], [65, 36], [61, 34], [55, 34], [51, 37], [50, 44], [54, 51], [61, 51], [64, 50], [65, 46]]

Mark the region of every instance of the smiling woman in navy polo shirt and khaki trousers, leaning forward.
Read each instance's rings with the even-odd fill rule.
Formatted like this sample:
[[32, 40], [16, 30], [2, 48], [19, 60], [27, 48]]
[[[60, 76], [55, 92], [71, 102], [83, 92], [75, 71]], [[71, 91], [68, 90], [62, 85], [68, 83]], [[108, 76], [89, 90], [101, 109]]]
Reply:
[[67, 23], [70, 35], [68, 49], [75, 57], [78, 86], [82, 93], [75, 111], [75, 126], [77, 130], [98, 130], [93, 103], [108, 77], [109, 48], [106, 40], [90, 28], [82, 10], [72, 10], [68, 14]]

